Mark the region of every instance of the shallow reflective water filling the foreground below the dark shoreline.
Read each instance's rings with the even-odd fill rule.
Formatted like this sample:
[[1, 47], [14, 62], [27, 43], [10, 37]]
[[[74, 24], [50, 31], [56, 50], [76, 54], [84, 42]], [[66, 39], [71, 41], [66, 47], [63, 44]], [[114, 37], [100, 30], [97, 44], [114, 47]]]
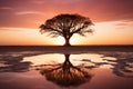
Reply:
[[133, 52], [0, 53], [0, 89], [133, 89]]

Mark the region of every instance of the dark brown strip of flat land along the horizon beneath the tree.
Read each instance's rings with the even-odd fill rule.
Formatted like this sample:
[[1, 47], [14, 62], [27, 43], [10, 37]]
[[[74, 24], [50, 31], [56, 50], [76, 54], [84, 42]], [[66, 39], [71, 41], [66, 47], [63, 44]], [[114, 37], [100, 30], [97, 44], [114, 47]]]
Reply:
[[0, 51], [126, 51], [133, 52], [133, 44], [113, 46], [0, 46]]

